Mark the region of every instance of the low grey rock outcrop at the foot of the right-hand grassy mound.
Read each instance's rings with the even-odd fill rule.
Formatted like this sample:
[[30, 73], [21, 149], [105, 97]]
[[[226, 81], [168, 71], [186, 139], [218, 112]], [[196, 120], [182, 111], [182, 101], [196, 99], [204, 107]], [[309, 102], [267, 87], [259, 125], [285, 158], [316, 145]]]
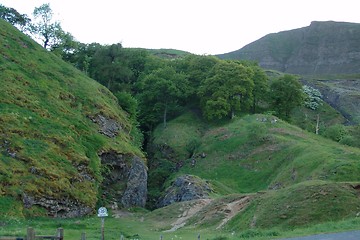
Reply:
[[209, 198], [212, 192], [210, 184], [198, 177], [183, 175], [176, 178], [157, 203], [157, 207], [165, 207], [175, 202]]

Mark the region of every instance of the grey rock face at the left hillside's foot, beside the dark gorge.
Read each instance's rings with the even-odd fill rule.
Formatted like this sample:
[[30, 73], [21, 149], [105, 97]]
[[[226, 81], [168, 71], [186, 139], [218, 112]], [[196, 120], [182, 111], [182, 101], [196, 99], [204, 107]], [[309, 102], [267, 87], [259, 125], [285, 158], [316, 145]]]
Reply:
[[123, 207], [144, 207], [147, 196], [147, 167], [131, 155], [106, 152], [100, 155], [104, 166], [103, 192]]

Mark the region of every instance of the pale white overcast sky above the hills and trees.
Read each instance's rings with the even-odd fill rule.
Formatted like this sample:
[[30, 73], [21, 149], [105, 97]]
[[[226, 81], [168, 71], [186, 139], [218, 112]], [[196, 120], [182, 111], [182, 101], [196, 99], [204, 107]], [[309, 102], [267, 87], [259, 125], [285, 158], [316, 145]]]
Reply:
[[50, 3], [54, 19], [83, 43], [235, 51], [268, 33], [311, 21], [360, 23], [359, 0], [0, 0], [31, 16]]

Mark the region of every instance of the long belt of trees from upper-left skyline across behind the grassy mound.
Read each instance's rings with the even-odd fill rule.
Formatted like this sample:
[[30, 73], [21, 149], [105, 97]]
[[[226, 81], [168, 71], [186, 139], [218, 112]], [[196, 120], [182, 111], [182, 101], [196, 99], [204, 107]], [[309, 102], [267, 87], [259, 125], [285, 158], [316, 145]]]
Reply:
[[53, 21], [49, 4], [35, 8], [33, 19], [0, 5], [3, 19], [26, 29], [43, 47], [61, 56], [110, 89], [134, 123], [151, 130], [184, 108], [200, 109], [208, 120], [238, 113], [274, 111], [289, 118], [303, 103], [304, 92], [291, 75], [269, 81], [255, 63], [187, 55], [163, 59], [120, 43], [100, 45], [75, 41]]

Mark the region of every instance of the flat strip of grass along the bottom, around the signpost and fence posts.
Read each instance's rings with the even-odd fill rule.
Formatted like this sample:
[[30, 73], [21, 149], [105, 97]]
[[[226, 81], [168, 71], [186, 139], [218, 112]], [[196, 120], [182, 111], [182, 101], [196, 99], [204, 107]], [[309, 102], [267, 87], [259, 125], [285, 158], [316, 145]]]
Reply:
[[[342, 231], [359, 230], [359, 218], [346, 218], [340, 221], [327, 221], [321, 224], [284, 230], [281, 228], [269, 229], [245, 229], [245, 230], [211, 230], [201, 228], [185, 228], [175, 232], [164, 232], [153, 225], [153, 221], [148, 221], [147, 214], [134, 214], [130, 217], [105, 219], [106, 239], [119, 239], [121, 235], [125, 240], [142, 239], [197, 239], [200, 234], [201, 239], [206, 240], [265, 240], [280, 239], [297, 236], [307, 236], [320, 233], [333, 233]], [[151, 220], [151, 219], [150, 219]], [[27, 227], [33, 227], [38, 235], [53, 235], [57, 228], [64, 228], [66, 239], [79, 239], [81, 234], [86, 233], [87, 239], [99, 239], [101, 236], [101, 222], [97, 217], [77, 218], [77, 219], [47, 219], [36, 218], [27, 220], [7, 219], [0, 220], [0, 236], [24, 236]]]

